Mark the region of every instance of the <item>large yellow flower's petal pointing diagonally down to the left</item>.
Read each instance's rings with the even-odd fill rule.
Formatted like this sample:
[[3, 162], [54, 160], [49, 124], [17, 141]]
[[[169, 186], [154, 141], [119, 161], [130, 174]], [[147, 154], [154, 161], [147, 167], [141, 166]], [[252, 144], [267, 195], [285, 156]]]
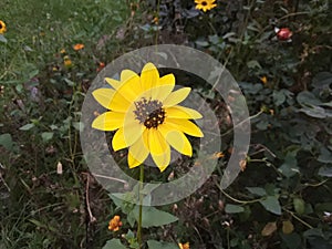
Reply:
[[115, 133], [112, 139], [113, 149], [116, 152], [133, 145], [139, 136], [142, 136], [144, 126], [139, 125], [137, 122], [125, 124], [124, 127], [121, 127]]

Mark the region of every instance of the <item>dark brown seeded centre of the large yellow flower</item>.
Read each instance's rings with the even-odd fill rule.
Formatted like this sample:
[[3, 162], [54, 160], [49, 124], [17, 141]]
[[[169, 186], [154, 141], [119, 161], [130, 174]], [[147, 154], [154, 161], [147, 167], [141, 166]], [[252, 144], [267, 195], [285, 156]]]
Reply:
[[142, 97], [135, 102], [136, 110], [134, 114], [139, 124], [144, 124], [147, 128], [156, 128], [164, 123], [165, 110], [159, 101], [152, 101]]

